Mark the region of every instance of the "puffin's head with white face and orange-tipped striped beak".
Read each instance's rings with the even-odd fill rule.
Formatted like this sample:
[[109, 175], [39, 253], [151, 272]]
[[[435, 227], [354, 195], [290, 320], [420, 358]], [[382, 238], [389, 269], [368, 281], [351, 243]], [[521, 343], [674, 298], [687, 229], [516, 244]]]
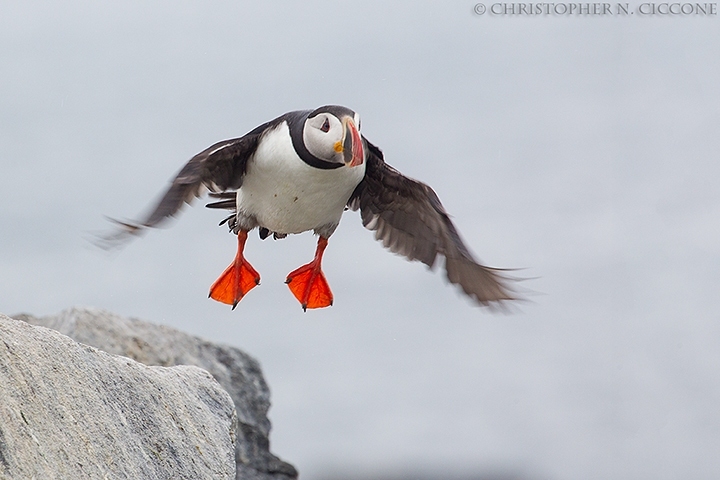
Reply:
[[303, 126], [303, 143], [326, 162], [357, 167], [365, 160], [360, 116], [346, 107], [326, 105], [311, 112]]

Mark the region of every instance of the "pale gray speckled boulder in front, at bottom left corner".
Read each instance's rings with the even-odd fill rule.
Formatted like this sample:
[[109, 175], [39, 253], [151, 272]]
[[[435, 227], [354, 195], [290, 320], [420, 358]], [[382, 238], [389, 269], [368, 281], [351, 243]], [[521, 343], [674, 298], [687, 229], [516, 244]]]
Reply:
[[235, 410], [200, 368], [148, 367], [0, 315], [0, 478], [232, 479]]

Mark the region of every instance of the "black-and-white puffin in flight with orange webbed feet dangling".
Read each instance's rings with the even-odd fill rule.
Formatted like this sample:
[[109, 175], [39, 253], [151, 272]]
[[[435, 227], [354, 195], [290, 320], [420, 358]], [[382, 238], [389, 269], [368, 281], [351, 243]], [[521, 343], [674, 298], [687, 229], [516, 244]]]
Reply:
[[233, 309], [260, 284], [244, 255], [248, 232], [255, 228], [261, 239], [308, 230], [318, 235], [314, 259], [290, 272], [285, 283], [303, 310], [332, 305], [322, 257], [347, 209], [360, 210], [363, 225], [394, 253], [429, 267], [444, 256], [450, 283], [479, 304], [518, 299], [502, 270], [473, 258], [433, 189], [385, 163], [380, 149], [360, 134], [360, 118], [349, 108], [289, 112], [208, 147], [180, 170], [144, 220], [116, 220], [121, 229], [105, 237], [105, 245], [157, 226], [206, 190], [219, 199], [207, 207], [233, 212], [220, 225], [227, 223], [237, 235], [237, 254], [209, 295]]

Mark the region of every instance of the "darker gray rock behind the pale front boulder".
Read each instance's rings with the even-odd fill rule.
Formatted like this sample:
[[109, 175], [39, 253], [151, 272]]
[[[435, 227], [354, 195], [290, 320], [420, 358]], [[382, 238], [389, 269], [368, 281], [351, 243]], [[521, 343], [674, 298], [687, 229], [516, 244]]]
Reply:
[[36, 318], [15, 315], [33, 325], [58, 330], [75, 341], [130, 357], [146, 365], [196, 365], [210, 372], [235, 402], [238, 417], [237, 478], [289, 480], [297, 471], [270, 453], [270, 391], [256, 360], [241, 350], [218, 345], [174, 328], [124, 318], [92, 308], [71, 308]]

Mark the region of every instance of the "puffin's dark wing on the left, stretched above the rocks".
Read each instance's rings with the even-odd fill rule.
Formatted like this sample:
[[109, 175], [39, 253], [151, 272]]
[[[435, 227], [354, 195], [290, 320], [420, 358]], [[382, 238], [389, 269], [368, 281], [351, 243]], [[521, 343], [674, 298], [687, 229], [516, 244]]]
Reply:
[[284, 116], [260, 125], [248, 134], [218, 142], [190, 159], [145, 218], [138, 222], [113, 220], [120, 228], [98, 240], [98, 245], [110, 248], [122, 244], [144, 229], [156, 227], [180, 208], [202, 196], [205, 191], [237, 190], [242, 185], [248, 159], [255, 153], [260, 138], [268, 129], [282, 123]]

